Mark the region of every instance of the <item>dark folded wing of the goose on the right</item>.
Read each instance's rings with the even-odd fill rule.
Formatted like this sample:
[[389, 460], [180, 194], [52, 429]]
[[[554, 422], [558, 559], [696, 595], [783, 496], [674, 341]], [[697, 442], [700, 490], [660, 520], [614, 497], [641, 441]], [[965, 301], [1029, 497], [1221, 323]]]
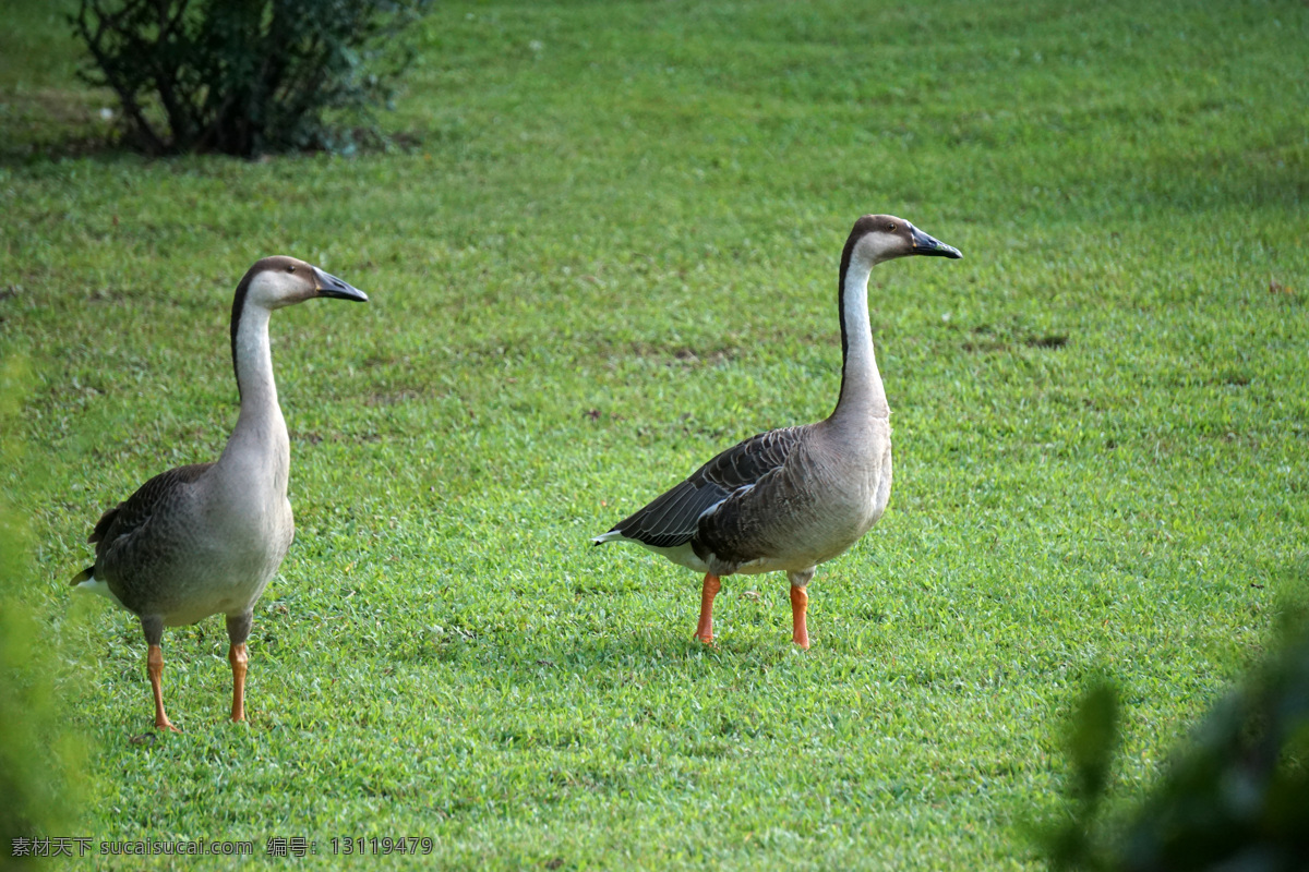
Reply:
[[632, 539], [653, 548], [675, 548], [695, 536], [700, 519], [732, 497], [753, 490], [780, 469], [800, 443], [802, 428], [768, 430], [738, 442], [596, 539]]

